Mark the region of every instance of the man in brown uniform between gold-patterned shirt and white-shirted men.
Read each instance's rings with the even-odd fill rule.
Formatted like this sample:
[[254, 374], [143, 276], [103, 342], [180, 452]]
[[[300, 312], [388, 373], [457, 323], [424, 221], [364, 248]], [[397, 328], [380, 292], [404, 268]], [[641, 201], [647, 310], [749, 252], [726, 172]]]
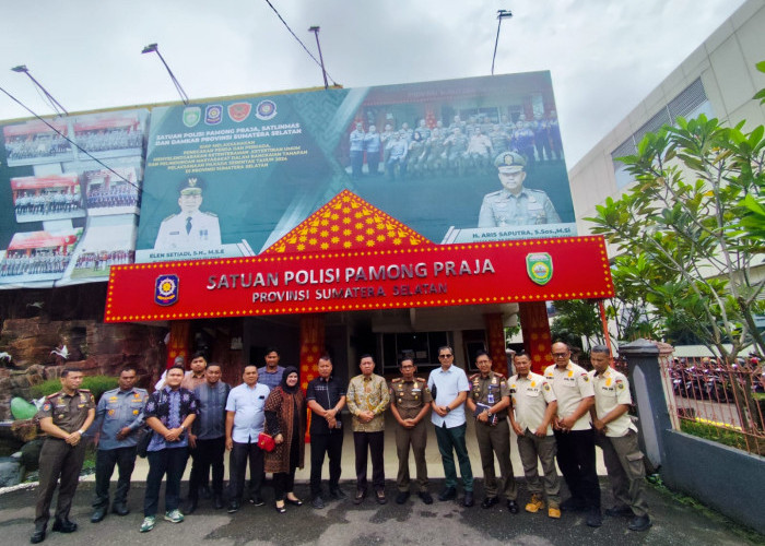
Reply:
[[433, 497], [427, 490], [427, 463], [425, 447], [427, 446], [427, 429], [425, 416], [431, 410], [431, 390], [427, 381], [414, 377], [417, 368], [412, 358], [404, 358], [399, 365], [401, 377], [393, 379], [390, 387], [390, 413], [393, 414], [396, 427], [396, 452], [399, 455], [399, 474], [396, 485], [399, 494], [398, 505], [403, 505], [409, 498], [409, 447], [414, 451], [414, 464], [417, 468], [417, 495], [425, 505], [433, 503]]

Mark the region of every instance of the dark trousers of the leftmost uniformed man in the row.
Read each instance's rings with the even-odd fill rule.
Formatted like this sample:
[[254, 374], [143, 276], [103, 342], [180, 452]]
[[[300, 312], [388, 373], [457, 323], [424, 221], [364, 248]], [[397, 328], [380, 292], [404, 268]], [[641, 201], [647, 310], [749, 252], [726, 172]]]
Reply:
[[70, 446], [62, 439], [46, 438], [39, 453], [39, 488], [35, 509], [35, 527], [45, 529], [50, 519], [50, 501], [59, 484], [56, 519], [69, 519], [72, 499], [85, 460], [85, 442]]

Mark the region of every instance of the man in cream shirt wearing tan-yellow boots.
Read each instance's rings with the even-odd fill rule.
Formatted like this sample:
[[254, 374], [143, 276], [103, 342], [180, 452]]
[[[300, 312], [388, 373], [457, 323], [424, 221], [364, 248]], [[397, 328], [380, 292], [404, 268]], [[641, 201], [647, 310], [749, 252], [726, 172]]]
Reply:
[[515, 365], [517, 373], [507, 382], [514, 410], [510, 412], [510, 425], [518, 436], [518, 453], [531, 494], [526, 511], [537, 513], [544, 508], [542, 483], [537, 468], [541, 462], [548, 515], [557, 519], [561, 518], [561, 478], [555, 470], [556, 446], [550, 426], [557, 411], [557, 401], [548, 380], [531, 371], [529, 355], [518, 353]]

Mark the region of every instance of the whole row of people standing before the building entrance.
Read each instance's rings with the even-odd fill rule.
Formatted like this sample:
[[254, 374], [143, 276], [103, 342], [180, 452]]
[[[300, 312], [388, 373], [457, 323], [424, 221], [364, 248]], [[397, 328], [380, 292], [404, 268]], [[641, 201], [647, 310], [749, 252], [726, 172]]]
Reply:
[[[315, 509], [329, 500], [344, 499], [340, 487], [343, 427], [340, 413], [348, 404], [355, 450], [356, 491], [354, 503], [368, 494], [367, 460], [372, 460], [374, 499], [385, 505], [384, 440], [385, 413], [396, 422], [396, 451], [399, 470], [396, 502], [403, 505], [411, 495], [410, 448], [416, 467], [416, 492], [426, 503], [434, 499], [428, 490], [425, 450], [426, 417], [435, 426], [438, 451], [445, 473], [440, 501], [457, 498], [460, 485], [462, 505], [472, 507], [473, 472], [468, 455], [466, 432], [468, 415], [475, 422], [484, 475], [481, 507], [490, 509], [504, 497], [508, 511], [520, 511], [518, 487], [510, 464], [510, 430], [516, 436], [531, 497], [527, 512], [548, 509], [550, 518], [561, 511], [586, 511], [590, 526], [602, 524], [600, 487], [596, 473], [595, 446], [603, 450], [615, 506], [607, 515], [631, 515], [628, 529], [645, 531], [651, 525], [644, 495], [643, 454], [637, 446], [636, 427], [627, 415], [632, 403], [627, 379], [610, 367], [609, 349], [592, 348], [593, 370], [587, 372], [570, 361], [564, 343], [552, 347], [555, 364], [543, 376], [531, 371], [526, 354], [515, 356], [516, 375], [510, 378], [492, 370], [485, 352], [475, 357], [479, 373], [468, 378], [454, 365], [454, 351], [438, 351], [440, 366], [427, 380], [416, 376], [411, 357], [400, 361], [400, 377], [389, 384], [374, 372], [370, 355], [360, 360], [361, 373], [348, 388], [332, 373], [332, 360], [318, 363], [319, 377], [308, 383], [304, 394], [298, 370], [279, 366], [279, 351], [268, 349], [266, 366], [247, 365], [243, 383], [231, 388], [221, 381], [221, 367], [207, 363], [203, 353], [191, 358], [186, 371], [176, 363], [150, 395], [136, 387], [137, 370], [126, 367], [119, 387], [107, 391], [97, 407], [92, 394], [80, 389], [82, 372], [63, 370], [62, 390], [48, 396], [38, 413], [42, 429], [48, 435], [40, 453], [40, 485], [36, 507], [33, 544], [46, 537], [50, 501], [60, 482], [54, 531], [71, 533], [76, 524], [69, 510], [84, 459], [86, 434], [97, 444], [96, 488], [93, 523], [101, 522], [109, 509], [109, 480], [115, 466], [119, 471], [111, 511], [127, 515], [127, 495], [136, 463], [139, 434], [144, 425], [151, 430], [145, 447], [149, 460], [141, 532], [156, 524], [160, 487], [166, 480], [164, 520], [184, 521], [200, 497], [209, 491], [212, 506], [223, 509], [224, 453], [229, 455], [229, 480], [225, 495], [228, 513], [237, 512], [244, 499], [262, 506], [264, 473], [273, 473], [274, 508], [286, 512], [286, 505], [302, 506], [294, 492], [295, 471], [304, 466], [306, 410], [310, 408], [310, 492]], [[273, 442], [264, 449], [263, 437]], [[180, 511], [180, 479], [189, 455], [192, 459], [189, 492]], [[456, 458], [455, 458], [456, 455]], [[329, 489], [322, 488], [321, 471], [329, 458]], [[494, 460], [499, 463], [499, 477]], [[561, 502], [555, 459], [566, 480], [570, 498]], [[245, 495], [245, 475], [249, 463], [250, 483]], [[543, 477], [538, 475], [541, 463]], [[460, 479], [458, 480], [457, 466]], [[208, 485], [212, 468], [212, 487]]]

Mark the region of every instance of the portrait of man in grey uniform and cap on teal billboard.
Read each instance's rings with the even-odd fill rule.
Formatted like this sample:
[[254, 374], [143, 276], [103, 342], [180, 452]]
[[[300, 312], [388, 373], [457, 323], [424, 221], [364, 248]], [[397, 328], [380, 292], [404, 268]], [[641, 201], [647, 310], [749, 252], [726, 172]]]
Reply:
[[528, 226], [558, 224], [561, 216], [542, 190], [523, 187], [526, 159], [515, 152], [503, 152], [494, 159], [499, 191], [486, 193], [481, 203], [478, 227]]

